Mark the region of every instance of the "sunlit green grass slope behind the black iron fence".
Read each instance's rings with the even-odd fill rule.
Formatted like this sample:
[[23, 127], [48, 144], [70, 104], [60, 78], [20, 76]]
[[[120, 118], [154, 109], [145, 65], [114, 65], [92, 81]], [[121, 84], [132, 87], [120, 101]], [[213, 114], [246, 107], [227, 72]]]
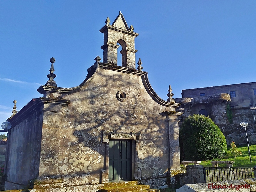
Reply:
[[[248, 147], [237, 146], [237, 148], [241, 150], [242, 155], [237, 156], [236, 159], [231, 155], [230, 152], [228, 152], [227, 156], [223, 158], [214, 158], [212, 160], [202, 161], [200, 165], [203, 165], [204, 167], [212, 167], [211, 161], [235, 161], [235, 163], [233, 163], [233, 167], [254, 167], [256, 165], [256, 145], [250, 146], [252, 163], [250, 162]], [[219, 164], [219, 166], [225, 167], [226, 164]]]

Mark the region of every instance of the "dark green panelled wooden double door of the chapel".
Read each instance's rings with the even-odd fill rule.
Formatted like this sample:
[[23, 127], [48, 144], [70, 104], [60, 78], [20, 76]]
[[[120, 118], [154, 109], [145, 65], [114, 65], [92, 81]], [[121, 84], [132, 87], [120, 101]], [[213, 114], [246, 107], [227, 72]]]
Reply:
[[132, 180], [132, 141], [109, 140], [109, 182]]

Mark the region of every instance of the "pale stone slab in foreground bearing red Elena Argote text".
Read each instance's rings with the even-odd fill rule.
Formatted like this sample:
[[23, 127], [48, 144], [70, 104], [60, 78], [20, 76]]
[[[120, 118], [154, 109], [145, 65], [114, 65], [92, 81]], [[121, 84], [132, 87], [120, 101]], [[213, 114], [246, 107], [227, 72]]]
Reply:
[[208, 192], [208, 191], [240, 191], [240, 192], [256, 192], [256, 179], [243, 179], [220, 181], [214, 183], [198, 183], [188, 184], [177, 189], [176, 192]]

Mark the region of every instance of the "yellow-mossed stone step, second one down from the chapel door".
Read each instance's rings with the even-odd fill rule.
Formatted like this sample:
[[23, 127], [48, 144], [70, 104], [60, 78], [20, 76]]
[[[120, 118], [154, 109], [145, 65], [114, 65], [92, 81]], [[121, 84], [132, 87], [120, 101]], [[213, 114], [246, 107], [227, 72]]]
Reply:
[[124, 186], [124, 187], [116, 187], [116, 188], [105, 188], [101, 189], [101, 192], [137, 192], [137, 191], [147, 191], [149, 189], [149, 185], [133, 185], [133, 186]]

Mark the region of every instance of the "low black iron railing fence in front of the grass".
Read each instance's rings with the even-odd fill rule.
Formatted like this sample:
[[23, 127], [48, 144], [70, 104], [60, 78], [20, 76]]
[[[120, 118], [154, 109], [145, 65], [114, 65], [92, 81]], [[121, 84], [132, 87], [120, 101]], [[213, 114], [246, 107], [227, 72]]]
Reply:
[[252, 167], [204, 167], [204, 181], [216, 182], [254, 178]]

